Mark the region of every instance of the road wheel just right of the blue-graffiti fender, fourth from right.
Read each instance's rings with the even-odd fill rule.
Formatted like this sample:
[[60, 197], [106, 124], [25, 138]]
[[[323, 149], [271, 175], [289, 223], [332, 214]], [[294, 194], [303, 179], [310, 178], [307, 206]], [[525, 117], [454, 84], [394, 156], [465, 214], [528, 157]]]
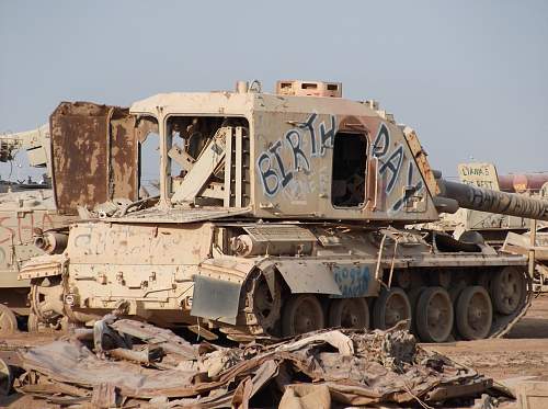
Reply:
[[407, 320], [411, 328], [411, 304], [406, 292], [398, 287], [383, 288], [373, 307], [373, 325], [378, 329], [388, 329], [399, 321]]

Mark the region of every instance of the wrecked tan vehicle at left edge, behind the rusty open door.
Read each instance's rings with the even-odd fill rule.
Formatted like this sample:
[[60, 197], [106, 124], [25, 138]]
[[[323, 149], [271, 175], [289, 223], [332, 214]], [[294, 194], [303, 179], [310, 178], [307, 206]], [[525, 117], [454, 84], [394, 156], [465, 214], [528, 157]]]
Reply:
[[[20, 150], [32, 167], [49, 162], [49, 126], [0, 135], [0, 162], [10, 162]], [[8, 178], [9, 179], [9, 178]], [[19, 281], [22, 261], [44, 254], [34, 246], [34, 228], [58, 227], [49, 174], [39, 183], [0, 180], [0, 334], [18, 329], [18, 316], [27, 316], [28, 281]]]

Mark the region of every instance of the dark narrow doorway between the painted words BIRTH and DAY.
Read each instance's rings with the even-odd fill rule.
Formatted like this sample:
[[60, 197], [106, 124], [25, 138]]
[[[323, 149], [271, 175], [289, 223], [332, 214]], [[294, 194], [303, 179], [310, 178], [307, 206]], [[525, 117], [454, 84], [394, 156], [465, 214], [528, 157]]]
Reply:
[[340, 132], [333, 147], [331, 203], [339, 207], [357, 207], [365, 203], [367, 137]]

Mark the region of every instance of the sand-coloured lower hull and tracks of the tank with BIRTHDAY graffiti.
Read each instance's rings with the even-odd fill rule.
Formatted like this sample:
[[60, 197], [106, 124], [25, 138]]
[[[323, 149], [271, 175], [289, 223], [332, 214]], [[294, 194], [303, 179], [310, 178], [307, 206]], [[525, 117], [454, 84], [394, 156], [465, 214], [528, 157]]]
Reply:
[[[274, 254], [239, 255], [241, 236], [269, 237]], [[284, 242], [307, 250], [276, 253], [274, 243], [284, 249]], [[198, 323], [250, 340], [330, 326], [387, 328], [408, 319], [423, 340], [443, 342], [505, 333], [528, 307], [526, 271], [523, 257], [436, 234], [99, 221], [75, 225], [65, 253], [34, 259], [21, 275], [32, 277], [33, 293], [41, 294], [33, 308], [44, 320], [68, 316], [85, 323], [123, 308], [164, 327]], [[500, 296], [504, 274], [514, 286], [507, 299]]]

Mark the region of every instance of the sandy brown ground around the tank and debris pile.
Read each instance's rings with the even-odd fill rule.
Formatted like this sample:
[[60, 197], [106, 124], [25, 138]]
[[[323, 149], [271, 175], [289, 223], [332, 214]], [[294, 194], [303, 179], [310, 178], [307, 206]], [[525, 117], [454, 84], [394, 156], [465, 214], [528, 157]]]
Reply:
[[[0, 350], [5, 344], [43, 344], [59, 336], [31, 337], [27, 333], [19, 333], [0, 340]], [[495, 380], [520, 376], [540, 376], [539, 380], [548, 380], [548, 293], [534, 299], [526, 316], [503, 339], [422, 345], [471, 366]], [[0, 408], [4, 407], [52, 408], [54, 406], [33, 400], [30, 396], [12, 395], [9, 398], [0, 398]]]

